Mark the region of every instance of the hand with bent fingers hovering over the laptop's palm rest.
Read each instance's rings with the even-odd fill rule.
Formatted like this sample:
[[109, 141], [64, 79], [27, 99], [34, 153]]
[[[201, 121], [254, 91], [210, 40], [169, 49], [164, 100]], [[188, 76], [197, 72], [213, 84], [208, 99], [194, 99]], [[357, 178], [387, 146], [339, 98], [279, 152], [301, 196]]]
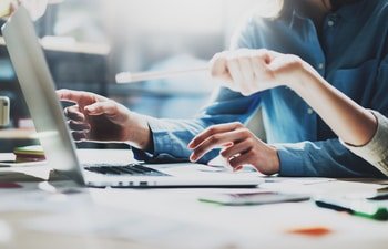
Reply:
[[188, 144], [188, 148], [193, 149], [190, 159], [196, 162], [210, 151], [219, 147], [221, 156], [235, 169], [243, 165], [253, 165], [265, 175], [279, 172], [277, 149], [258, 139], [241, 123], [215, 125], [197, 135]]

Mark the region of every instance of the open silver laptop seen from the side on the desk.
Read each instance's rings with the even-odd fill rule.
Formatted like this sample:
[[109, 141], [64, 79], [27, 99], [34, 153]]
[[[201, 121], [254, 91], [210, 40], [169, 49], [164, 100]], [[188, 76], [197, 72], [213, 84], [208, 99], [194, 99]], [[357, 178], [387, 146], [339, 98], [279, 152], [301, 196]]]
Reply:
[[200, 164], [93, 165], [79, 163], [55, 86], [28, 11], [20, 7], [2, 27], [7, 49], [44, 149], [48, 166], [90, 187], [255, 187], [255, 173]]

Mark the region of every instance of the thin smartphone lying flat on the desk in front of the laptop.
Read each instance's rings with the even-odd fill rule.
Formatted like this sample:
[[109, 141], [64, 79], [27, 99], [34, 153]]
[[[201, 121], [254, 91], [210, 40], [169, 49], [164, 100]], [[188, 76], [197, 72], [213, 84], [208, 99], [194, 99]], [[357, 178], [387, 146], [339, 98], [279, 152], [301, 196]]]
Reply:
[[310, 197], [307, 195], [283, 194], [277, 191], [214, 194], [200, 197], [201, 201], [227, 206], [278, 204], [289, 201], [303, 201], [308, 199], [310, 199]]

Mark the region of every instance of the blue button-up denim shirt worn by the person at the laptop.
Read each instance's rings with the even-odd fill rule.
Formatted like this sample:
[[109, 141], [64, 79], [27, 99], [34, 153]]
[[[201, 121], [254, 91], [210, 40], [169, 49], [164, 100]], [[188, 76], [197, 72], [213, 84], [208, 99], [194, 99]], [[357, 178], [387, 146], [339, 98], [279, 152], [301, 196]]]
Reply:
[[[253, 15], [233, 49], [270, 49], [300, 56], [330, 84], [367, 108], [388, 115], [388, 0], [361, 0], [326, 15], [321, 35], [297, 10], [278, 19]], [[314, 94], [314, 93], [312, 93]], [[282, 176], [382, 177], [345, 148], [330, 128], [292, 90], [252, 96], [217, 90], [212, 104], [193, 120], [150, 118], [153, 153], [134, 149], [146, 162], [187, 160], [187, 143], [221, 123], [247, 123], [262, 107], [267, 142], [278, 149]], [[323, 103], [325, 104], [325, 103]], [[213, 151], [201, 162], [218, 154]]]

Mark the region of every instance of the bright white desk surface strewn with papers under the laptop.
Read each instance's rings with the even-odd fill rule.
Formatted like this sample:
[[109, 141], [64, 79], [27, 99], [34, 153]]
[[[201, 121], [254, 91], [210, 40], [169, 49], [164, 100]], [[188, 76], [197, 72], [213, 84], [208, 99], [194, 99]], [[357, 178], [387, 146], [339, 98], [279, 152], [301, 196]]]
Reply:
[[[127, 151], [82, 151], [84, 162], [132, 160]], [[1, 154], [0, 159], [12, 159]], [[0, 168], [1, 174], [10, 168]], [[23, 172], [23, 168], [17, 169]], [[276, 179], [279, 179], [278, 181]], [[277, 187], [353, 193], [355, 181], [272, 178]], [[210, 193], [259, 189], [93, 189], [54, 183], [0, 188], [0, 248], [387, 248], [388, 222], [320, 209], [310, 201], [225, 207], [200, 203]], [[279, 185], [280, 184], [280, 185]], [[381, 181], [378, 184], [387, 184]], [[276, 187], [276, 186], [275, 186]], [[325, 236], [289, 230], [328, 229]]]

